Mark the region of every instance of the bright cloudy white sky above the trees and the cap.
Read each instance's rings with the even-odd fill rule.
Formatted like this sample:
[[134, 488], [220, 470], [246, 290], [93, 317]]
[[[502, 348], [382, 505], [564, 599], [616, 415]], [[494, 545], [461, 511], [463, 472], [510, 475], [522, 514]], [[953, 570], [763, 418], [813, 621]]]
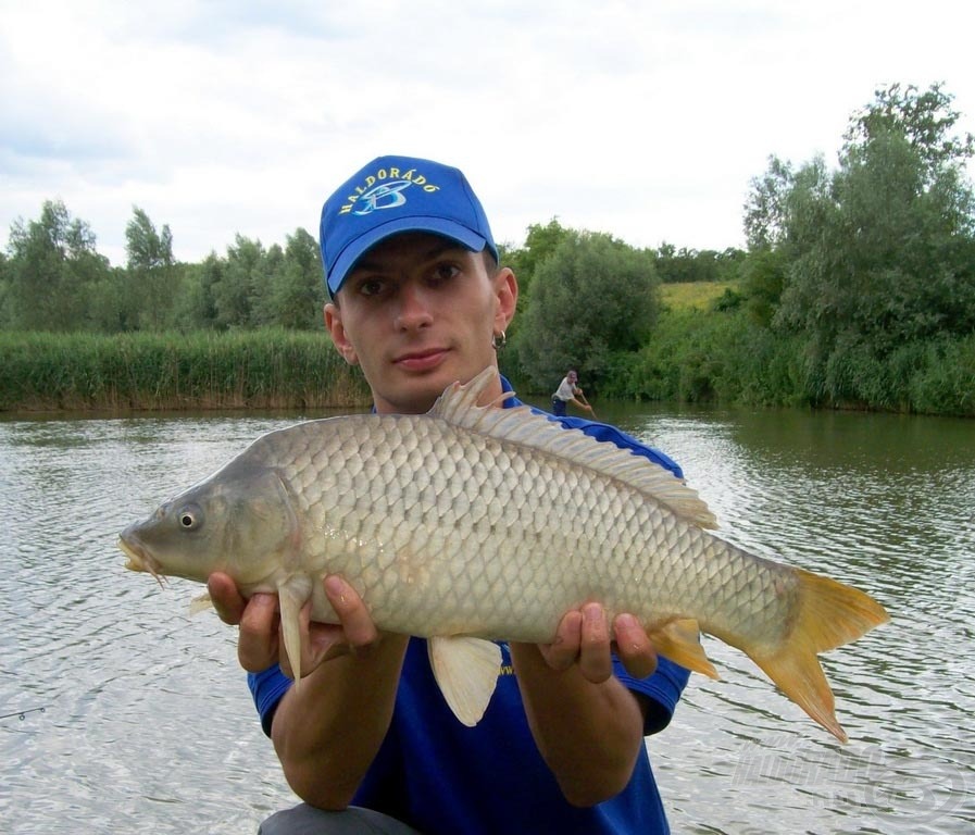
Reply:
[[833, 165], [889, 83], [975, 133], [966, 0], [0, 0], [0, 247], [62, 200], [125, 263], [316, 234], [384, 153], [462, 169], [499, 241], [533, 223], [743, 246], [770, 154]]

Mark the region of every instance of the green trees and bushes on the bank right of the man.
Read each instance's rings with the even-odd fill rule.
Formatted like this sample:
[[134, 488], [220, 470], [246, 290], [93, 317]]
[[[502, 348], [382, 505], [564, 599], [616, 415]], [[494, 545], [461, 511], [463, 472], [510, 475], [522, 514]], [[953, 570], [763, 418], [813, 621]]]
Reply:
[[891, 85], [852, 114], [837, 167], [770, 158], [737, 289], [707, 312], [647, 301], [659, 252], [548, 229], [518, 373], [541, 388], [577, 365], [613, 397], [975, 415], [975, 140], [959, 117], [940, 85]]

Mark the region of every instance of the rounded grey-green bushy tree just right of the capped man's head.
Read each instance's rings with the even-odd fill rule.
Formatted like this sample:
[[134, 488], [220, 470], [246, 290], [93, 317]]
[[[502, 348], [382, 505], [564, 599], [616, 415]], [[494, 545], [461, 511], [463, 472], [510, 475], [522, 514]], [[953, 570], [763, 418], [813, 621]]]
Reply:
[[517, 349], [541, 390], [554, 388], [568, 367], [598, 386], [613, 356], [636, 351], [658, 315], [652, 253], [609, 235], [566, 235], [533, 282]]

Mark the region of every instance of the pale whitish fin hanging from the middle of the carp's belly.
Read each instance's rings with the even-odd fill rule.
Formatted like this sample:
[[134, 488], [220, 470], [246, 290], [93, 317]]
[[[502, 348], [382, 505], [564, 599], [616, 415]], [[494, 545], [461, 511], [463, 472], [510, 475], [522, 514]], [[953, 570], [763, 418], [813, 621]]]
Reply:
[[430, 638], [434, 677], [454, 715], [474, 727], [487, 710], [501, 671], [501, 648], [483, 638]]

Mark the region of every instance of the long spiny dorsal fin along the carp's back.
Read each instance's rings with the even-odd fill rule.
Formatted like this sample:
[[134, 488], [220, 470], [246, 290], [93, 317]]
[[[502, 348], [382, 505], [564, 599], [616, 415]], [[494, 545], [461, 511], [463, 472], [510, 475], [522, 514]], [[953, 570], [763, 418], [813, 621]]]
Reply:
[[570, 459], [577, 466], [618, 478], [689, 522], [701, 527], [717, 527], [714, 514], [703, 499], [670, 470], [650, 459], [615, 444], [596, 440], [579, 429], [567, 429], [527, 406], [492, 408], [514, 397], [511, 391], [487, 406], [478, 406], [478, 399], [497, 376], [498, 370], [489, 365], [466, 385], [454, 383], [448, 386], [429, 415], [454, 426]]

